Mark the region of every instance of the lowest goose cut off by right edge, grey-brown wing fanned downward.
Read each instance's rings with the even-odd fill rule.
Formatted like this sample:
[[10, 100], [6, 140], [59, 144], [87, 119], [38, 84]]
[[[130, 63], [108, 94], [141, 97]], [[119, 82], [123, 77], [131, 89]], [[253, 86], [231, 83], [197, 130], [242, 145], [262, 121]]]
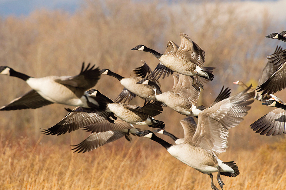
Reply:
[[286, 105], [275, 100], [269, 100], [262, 105], [281, 108], [274, 109], [268, 114], [262, 116], [250, 125], [250, 128], [260, 135], [282, 135], [286, 134]]

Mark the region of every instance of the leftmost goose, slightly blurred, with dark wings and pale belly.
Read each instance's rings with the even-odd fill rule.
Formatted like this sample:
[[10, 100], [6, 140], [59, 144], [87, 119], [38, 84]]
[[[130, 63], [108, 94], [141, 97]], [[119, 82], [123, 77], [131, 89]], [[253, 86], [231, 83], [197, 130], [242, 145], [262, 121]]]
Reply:
[[94, 68], [95, 65], [90, 68], [89, 66], [90, 64], [84, 69], [84, 63], [82, 63], [81, 72], [75, 76], [47, 76], [42, 78], [30, 77], [10, 67], [1, 66], [0, 74], [21, 78], [33, 90], [2, 106], [0, 110], [35, 109], [52, 103], [85, 108], [98, 107], [98, 102], [88, 98], [85, 93], [85, 90], [95, 86], [100, 78], [99, 69]]

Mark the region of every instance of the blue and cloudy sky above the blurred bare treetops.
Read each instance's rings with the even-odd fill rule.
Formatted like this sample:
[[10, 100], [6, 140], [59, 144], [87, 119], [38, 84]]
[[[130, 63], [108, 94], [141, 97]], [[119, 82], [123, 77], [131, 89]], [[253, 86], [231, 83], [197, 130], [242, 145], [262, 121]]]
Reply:
[[[48, 10], [61, 9], [74, 13], [84, 2], [85, 0], [0, 0], [0, 16], [4, 18], [8, 15], [26, 16], [41, 8]], [[264, 10], [268, 10], [273, 18], [286, 20], [286, 0], [229, 0], [226, 1], [226, 4], [228, 3], [238, 5], [241, 11], [251, 9], [252, 15], [249, 16], [259, 15]]]

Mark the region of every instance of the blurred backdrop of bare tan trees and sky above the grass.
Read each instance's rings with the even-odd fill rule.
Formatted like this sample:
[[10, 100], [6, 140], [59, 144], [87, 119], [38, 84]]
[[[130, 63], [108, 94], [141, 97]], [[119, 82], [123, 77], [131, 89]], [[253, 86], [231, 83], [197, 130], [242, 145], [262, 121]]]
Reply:
[[[214, 80], [205, 85], [197, 104], [208, 107], [222, 86], [231, 88], [231, 95], [243, 90], [233, 84], [237, 80], [257, 86], [267, 55], [274, 53], [277, 45], [286, 48], [282, 41], [265, 38], [272, 32], [286, 30], [285, 9], [286, 0], [0, 0], [0, 65], [30, 76], [44, 77], [77, 75], [82, 62], [90, 62], [100, 69], [109, 68], [128, 77], [131, 69], [141, 66], [140, 60], [146, 61], [153, 70], [158, 64], [154, 55], [131, 51], [131, 48], [144, 44], [163, 53], [168, 40], [180, 44], [179, 33], [183, 32], [205, 50], [205, 66], [216, 67]], [[2, 75], [0, 81], [0, 106], [30, 90], [19, 78]], [[160, 79], [160, 82], [162, 91], [169, 91], [173, 77]], [[103, 75], [94, 88], [115, 99], [123, 86], [116, 78]], [[275, 95], [286, 101], [284, 92]], [[139, 97], [130, 102], [133, 105], [143, 103]], [[53, 104], [35, 110], [0, 112], [3, 146], [5, 142], [9, 145], [14, 140], [28, 138], [31, 146], [41, 142], [64, 146], [70, 151], [69, 145], [78, 144], [89, 133], [78, 130], [50, 136], [40, 132], [40, 128], [49, 128], [59, 122], [68, 113], [66, 107], [73, 109]], [[284, 139], [284, 135], [261, 136], [249, 128], [271, 110], [273, 108], [255, 101], [244, 121], [230, 130], [229, 149], [251, 151]], [[179, 123], [183, 118], [184, 115], [166, 107], [156, 117], [165, 122], [167, 131], [178, 137], [184, 136]], [[124, 143], [122, 138], [113, 145]], [[162, 148], [150, 141], [146, 143], [146, 146]], [[132, 146], [129, 144], [126, 146]], [[112, 145], [104, 147], [110, 149]]]

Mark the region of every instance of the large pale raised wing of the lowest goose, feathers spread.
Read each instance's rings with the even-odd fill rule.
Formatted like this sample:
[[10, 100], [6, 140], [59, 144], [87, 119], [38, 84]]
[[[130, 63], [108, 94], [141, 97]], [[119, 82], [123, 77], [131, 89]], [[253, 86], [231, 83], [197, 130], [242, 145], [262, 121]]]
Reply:
[[248, 105], [254, 102], [254, 99], [249, 99], [254, 97], [255, 92], [247, 93], [249, 88], [206, 108], [198, 115], [197, 130], [192, 138], [196, 146], [214, 156], [225, 152], [228, 148], [228, 130], [243, 120], [251, 108]]

